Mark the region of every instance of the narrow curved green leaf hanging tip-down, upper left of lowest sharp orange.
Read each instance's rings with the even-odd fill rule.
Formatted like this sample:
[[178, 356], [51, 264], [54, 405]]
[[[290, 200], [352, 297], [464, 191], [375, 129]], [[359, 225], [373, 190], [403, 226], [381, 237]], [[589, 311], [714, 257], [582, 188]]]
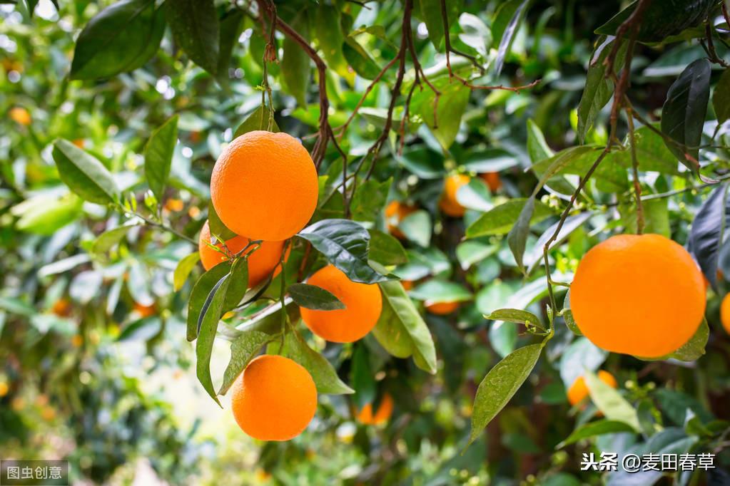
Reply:
[[213, 352], [215, 334], [218, 332], [218, 321], [220, 321], [220, 315], [223, 313], [223, 303], [226, 300], [229, 281], [228, 274], [223, 275], [223, 278], [215, 283], [215, 286], [211, 289], [206, 305], [201, 310], [200, 329], [198, 331], [198, 340], [195, 343], [196, 375], [205, 391], [221, 408], [223, 406], [218, 401], [218, 396], [213, 388], [213, 380], [210, 376], [210, 356]]

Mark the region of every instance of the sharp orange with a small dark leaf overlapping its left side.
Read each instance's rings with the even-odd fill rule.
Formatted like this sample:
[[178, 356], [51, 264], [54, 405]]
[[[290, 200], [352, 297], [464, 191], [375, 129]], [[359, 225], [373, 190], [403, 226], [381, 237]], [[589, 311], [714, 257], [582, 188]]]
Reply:
[[328, 265], [317, 270], [307, 283], [330, 291], [343, 304], [339, 310], [312, 310], [301, 307], [301, 320], [324, 340], [353, 342], [369, 333], [383, 309], [380, 288], [353, 282], [345, 273]]

